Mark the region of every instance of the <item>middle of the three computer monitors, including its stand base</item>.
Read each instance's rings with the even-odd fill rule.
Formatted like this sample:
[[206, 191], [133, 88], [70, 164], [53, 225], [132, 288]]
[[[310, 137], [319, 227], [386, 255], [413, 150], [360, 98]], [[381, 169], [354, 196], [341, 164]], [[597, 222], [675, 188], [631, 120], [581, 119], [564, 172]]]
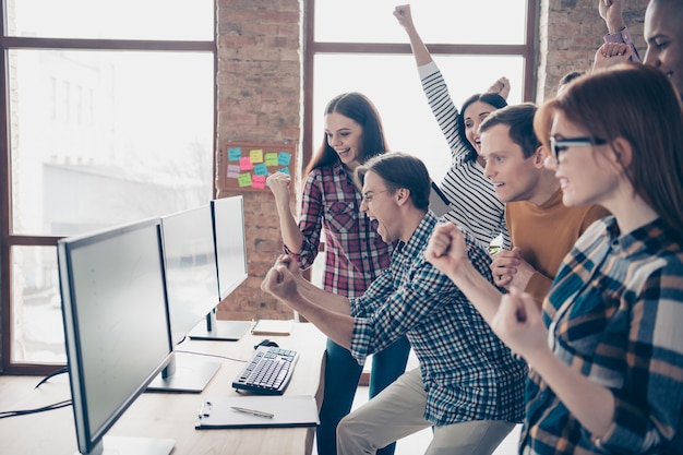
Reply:
[[[216, 248], [211, 205], [161, 217], [166, 292], [171, 339], [180, 344], [218, 304]], [[147, 387], [155, 392], [199, 393], [220, 368], [196, 356], [179, 356]]]

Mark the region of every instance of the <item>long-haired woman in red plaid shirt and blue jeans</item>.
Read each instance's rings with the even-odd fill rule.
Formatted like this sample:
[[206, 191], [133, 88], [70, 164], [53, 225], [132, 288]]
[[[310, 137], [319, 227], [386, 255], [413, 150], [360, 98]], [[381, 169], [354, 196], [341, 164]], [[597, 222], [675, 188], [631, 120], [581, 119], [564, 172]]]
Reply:
[[[290, 211], [289, 176], [277, 172], [266, 180], [275, 195], [285, 252], [301, 270], [313, 265], [324, 234], [323, 287], [329, 292], [359, 297], [390, 264], [393, 246], [378, 234], [376, 220], [360, 212], [362, 195], [354, 182], [359, 165], [387, 151], [372, 101], [359, 93], [345, 93], [325, 108], [325, 139], [305, 169], [298, 223]], [[409, 350], [403, 337], [373, 356], [370, 397], [405, 371]], [[350, 352], [328, 339], [319, 454], [336, 454], [337, 423], [351, 409], [361, 373]], [[391, 455], [394, 448], [392, 444], [380, 454]]]

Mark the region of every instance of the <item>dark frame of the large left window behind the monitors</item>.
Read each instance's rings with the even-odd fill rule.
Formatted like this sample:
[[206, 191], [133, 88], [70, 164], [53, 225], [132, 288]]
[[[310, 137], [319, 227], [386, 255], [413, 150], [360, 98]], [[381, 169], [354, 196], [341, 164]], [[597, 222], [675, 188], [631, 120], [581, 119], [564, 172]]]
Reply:
[[[5, 0], [0, 0], [0, 338], [2, 370], [0, 373], [13, 374], [47, 374], [63, 367], [50, 363], [16, 363], [12, 362], [12, 247], [52, 247], [62, 236], [14, 235], [11, 231], [11, 141], [10, 141], [10, 106], [9, 106], [9, 51], [15, 49], [64, 49], [64, 50], [132, 50], [132, 51], [178, 51], [178, 52], [212, 52], [214, 63], [213, 77], [213, 137], [217, 131], [217, 86], [216, 72], [216, 9], [213, 17], [212, 40], [149, 40], [149, 39], [79, 39], [79, 38], [38, 38], [5, 36], [7, 31]], [[215, 141], [212, 160], [213, 175], [216, 173]]]

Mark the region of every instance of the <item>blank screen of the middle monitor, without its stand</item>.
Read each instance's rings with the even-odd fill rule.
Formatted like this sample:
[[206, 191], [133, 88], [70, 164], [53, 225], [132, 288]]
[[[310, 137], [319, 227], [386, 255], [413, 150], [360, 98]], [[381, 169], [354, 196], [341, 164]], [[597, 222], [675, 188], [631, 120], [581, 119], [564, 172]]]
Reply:
[[161, 218], [173, 344], [218, 304], [216, 250], [209, 204]]

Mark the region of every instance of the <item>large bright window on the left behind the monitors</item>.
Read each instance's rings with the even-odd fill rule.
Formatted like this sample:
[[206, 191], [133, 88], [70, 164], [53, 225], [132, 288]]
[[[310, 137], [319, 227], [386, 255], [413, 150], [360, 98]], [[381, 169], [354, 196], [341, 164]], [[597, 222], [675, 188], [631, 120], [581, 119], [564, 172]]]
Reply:
[[2, 361], [40, 373], [67, 360], [59, 238], [213, 195], [214, 2], [0, 4]]

